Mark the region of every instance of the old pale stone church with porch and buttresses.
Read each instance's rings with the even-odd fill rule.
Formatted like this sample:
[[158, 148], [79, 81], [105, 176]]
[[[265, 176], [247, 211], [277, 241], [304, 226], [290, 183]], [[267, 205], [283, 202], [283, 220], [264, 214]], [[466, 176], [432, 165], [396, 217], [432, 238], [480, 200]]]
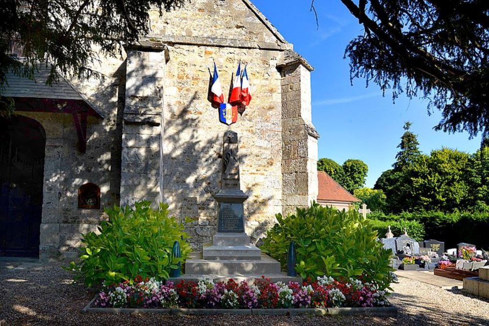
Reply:
[[[91, 67], [101, 78], [60, 76], [48, 87], [44, 70], [36, 82], [8, 77], [3, 95], [17, 116], [0, 121], [0, 230], [11, 230], [0, 256], [73, 258], [103, 207], [143, 199], [193, 218], [187, 231], [200, 249], [215, 233], [226, 130], [240, 138], [252, 239], [276, 213], [316, 199], [313, 68], [293, 45], [249, 0], [193, 0], [150, 16], [151, 33], [123, 58]], [[248, 65], [253, 100], [231, 126], [207, 100], [213, 60], [225, 93], [238, 62]]]

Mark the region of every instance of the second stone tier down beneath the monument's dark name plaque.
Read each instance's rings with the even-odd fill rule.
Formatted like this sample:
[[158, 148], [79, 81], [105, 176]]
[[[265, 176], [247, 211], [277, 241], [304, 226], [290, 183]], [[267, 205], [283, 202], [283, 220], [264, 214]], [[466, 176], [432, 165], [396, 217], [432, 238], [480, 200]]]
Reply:
[[260, 260], [262, 251], [255, 245], [248, 246], [216, 246], [204, 245], [202, 259], [210, 261]]

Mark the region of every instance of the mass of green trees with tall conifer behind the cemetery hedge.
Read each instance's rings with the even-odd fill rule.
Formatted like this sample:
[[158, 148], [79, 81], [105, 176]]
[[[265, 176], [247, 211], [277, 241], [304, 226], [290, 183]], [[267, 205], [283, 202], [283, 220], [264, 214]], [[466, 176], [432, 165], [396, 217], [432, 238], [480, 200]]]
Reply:
[[[416, 150], [406, 152], [414, 144]], [[484, 180], [489, 176], [489, 147], [473, 154], [443, 148], [426, 155], [417, 146], [416, 136], [405, 130], [394, 168], [378, 178], [374, 189], [387, 197], [384, 211], [487, 210], [489, 191]]]

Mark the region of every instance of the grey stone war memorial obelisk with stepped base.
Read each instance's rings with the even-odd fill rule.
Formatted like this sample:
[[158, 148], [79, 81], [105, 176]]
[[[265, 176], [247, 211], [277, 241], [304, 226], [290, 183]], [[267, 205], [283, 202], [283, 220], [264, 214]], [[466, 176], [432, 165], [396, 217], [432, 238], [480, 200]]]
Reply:
[[238, 135], [233, 131], [224, 134], [221, 190], [214, 196], [219, 203], [218, 230], [212, 242], [202, 247], [202, 254], [185, 263], [185, 274], [172, 282], [212, 279], [214, 282], [233, 279], [253, 283], [262, 276], [271, 282], [296, 281], [281, 272], [280, 263], [265, 255], [250, 243], [244, 233], [244, 201], [248, 198], [240, 189], [240, 169], [237, 159]]

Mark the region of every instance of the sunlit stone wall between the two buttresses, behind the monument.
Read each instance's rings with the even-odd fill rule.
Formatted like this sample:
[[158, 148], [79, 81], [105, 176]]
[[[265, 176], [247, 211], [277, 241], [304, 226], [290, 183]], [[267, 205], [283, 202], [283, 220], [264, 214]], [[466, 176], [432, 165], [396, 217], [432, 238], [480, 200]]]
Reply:
[[[187, 228], [195, 249], [215, 233], [220, 189], [222, 135], [238, 132], [246, 232], [259, 239], [282, 210], [282, 130], [278, 51], [175, 45], [169, 48], [163, 123], [163, 198]], [[238, 122], [219, 122], [207, 100], [212, 59], [219, 68], [225, 98], [239, 60], [248, 64], [253, 100]]]

